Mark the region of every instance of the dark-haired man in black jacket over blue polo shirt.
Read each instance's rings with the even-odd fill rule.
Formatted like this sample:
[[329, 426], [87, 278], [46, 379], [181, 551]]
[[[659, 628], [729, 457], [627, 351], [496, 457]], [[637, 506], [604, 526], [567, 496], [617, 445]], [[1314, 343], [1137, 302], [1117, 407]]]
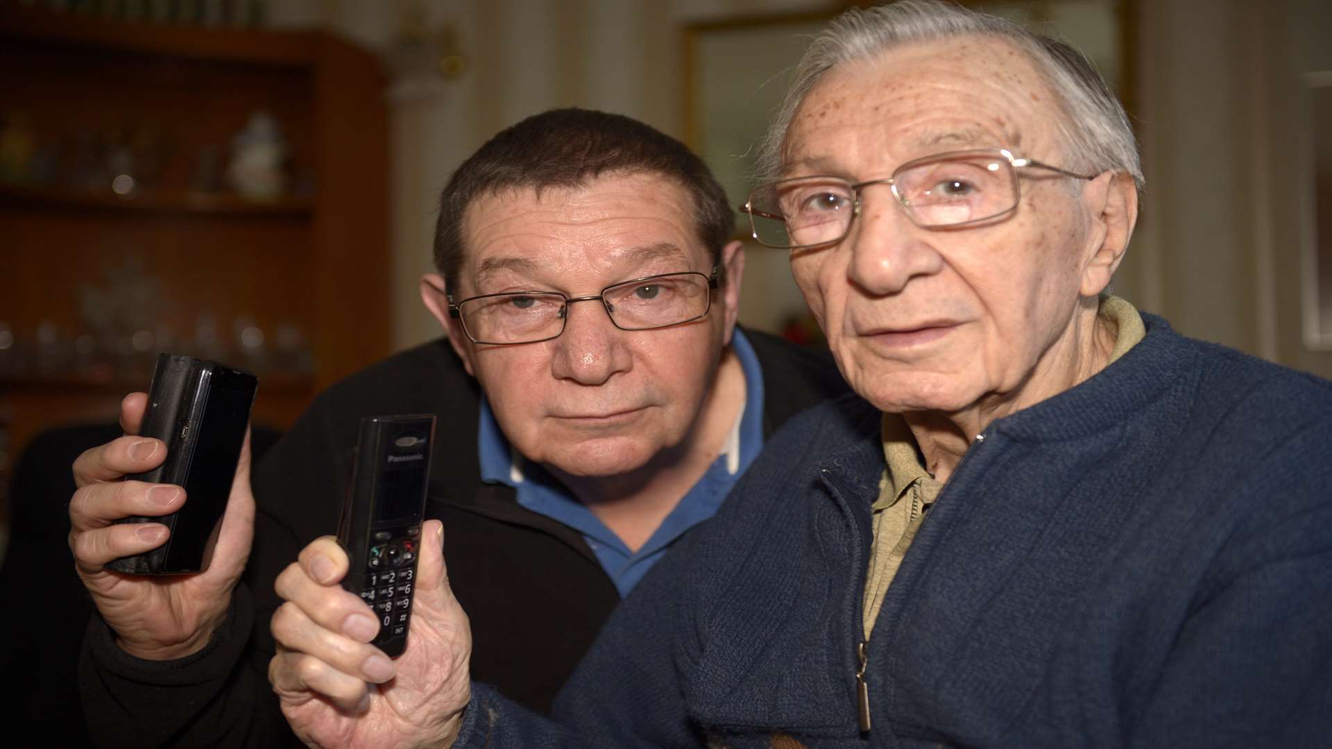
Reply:
[[[188, 501], [174, 486], [108, 482], [164, 457], [132, 436], [144, 397], [127, 397], [127, 436], [75, 464], [71, 548], [100, 610], [80, 674], [92, 733], [290, 741], [265, 673], [284, 709], [317, 709], [338, 677], [306, 650], [329, 648], [381, 685], [377, 714], [422, 698], [429, 680], [396, 673], [366, 644], [377, 621], [365, 605], [324, 576], [329, 560], [301, 552], [337, 528], [360, 418], [393, 413], [440, 417], [426, 510], [437, 520], [424, 537], [448, 533], [453, 590], [478, 632], [470, 652], [424, 669], [469, 660], [478, 680], [545, 710], [611, 609], [717, 510], [762, 441], [844, 389], [825, 356], [735, 327], [733, 231], [703, 163], [642, 123], [563, 109], [501, 132], [442, 195], [440, 273], [421, 295], [448, 343], [318, 396], [256, 466], [253, 498], [242, 460], [213, 564], [197, 576], [103, 569], [164, 541], [157, 524], [115, 518]], [[333, 582], [320, 612], [282, 605], [309, 581], [298, 554], [314, 584]], [[429, 652], [433, 634], [413, 625], [410, 646]]]

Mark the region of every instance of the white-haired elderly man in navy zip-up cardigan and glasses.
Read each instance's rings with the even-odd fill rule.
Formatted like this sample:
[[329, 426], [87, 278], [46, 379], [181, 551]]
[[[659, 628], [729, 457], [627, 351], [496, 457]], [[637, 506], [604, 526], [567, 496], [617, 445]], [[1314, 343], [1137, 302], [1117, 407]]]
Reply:
[[[769, 156], [754, 235], [858, 397], [787, 425], [647, 576], [559, 725], [457, 669], [393, 738], [1327, 742], [1332, 386], [1106, 295], [1143, 179], [1086, 59], [942, 3], [851, 11]], [[466, 629], [417, 616], [437, 648]]]

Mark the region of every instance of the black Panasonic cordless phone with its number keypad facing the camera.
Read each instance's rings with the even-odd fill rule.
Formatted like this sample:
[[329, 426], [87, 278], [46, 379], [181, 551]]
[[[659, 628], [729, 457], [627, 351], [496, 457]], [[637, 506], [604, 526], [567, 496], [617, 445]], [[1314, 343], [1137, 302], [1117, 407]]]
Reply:
[[337, 537], [349, 557], [342, 588], [374, 610], [380, 633], [370, 644], [390, 658], [408, 646], [433, 444], [434, 416], [362, 418], [342, 502]]

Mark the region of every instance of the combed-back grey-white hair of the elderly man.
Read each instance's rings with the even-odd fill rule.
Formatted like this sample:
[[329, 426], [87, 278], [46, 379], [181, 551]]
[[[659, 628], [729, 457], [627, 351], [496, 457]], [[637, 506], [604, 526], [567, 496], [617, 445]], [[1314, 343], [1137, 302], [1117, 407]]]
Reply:
[[852, 8], [821, 32], [795, 67], [767, 137], [757, 171], [777, 179], [785, 163], [786, 133], [805, 97], [825, 73], [847, 63], [874, 59], [895, 47], [958, 36], [999, 37], [1022, 52], [1046, 79], [1063, 108], [1058, 128], [1072, 160], [1071, 169], [1088, 173], [1122, 171], [1143, 189], [1143, 165], [1124, 108], [1087, 57], [1063, 41], [1032, 33], [1022, 25], [939, 0], [899, 0], [891, 5]]

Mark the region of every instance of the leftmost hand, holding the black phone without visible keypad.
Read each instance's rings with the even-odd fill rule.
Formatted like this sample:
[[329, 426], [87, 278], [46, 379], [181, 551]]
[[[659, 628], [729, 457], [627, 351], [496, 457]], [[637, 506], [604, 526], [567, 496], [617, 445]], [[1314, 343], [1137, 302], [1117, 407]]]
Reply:
[[120, 480], [157, 468], [166, 457], [161, 440], [135, 436], [147, 405], [145, 393], [127, 396], [120, 404], [125, 436], [75, 460], [77, 490], [69, 501], [69, 549], [75, 570], [103, 618], [116, 630], [121, 649], [140, 658], [172, 660], [208, 644], [225, 620], [232, 590], [245, 569], [254, 536], [249, 432], [213, 560], [205, 572], [148, 577], [107, 570], [103, 569], [107, 562], [156, 549], [168, 536], [166, 526], [157, 522], [115, 525], [115, 520], [166, 514], [188, 501], [180, 486]]

